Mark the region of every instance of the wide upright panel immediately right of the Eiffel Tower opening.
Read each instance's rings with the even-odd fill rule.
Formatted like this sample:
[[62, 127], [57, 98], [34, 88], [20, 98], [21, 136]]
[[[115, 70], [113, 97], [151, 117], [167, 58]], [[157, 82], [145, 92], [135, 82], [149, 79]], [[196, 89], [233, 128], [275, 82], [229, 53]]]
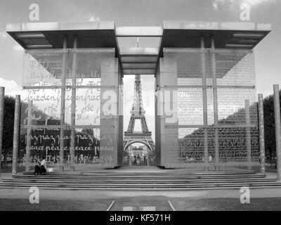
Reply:
[[[166, 89], [165, 86], [178, 85], [178, 62], [176, 57], [164, 56], [160, 63], [160, 124], [161, 124], [161, 165], [181, 163], [181, 143], [178, 139], [178, 88]], [[158, 113], [158, 112], [157, 112]], [[167, 128], [174, 125], [175, 128]]]

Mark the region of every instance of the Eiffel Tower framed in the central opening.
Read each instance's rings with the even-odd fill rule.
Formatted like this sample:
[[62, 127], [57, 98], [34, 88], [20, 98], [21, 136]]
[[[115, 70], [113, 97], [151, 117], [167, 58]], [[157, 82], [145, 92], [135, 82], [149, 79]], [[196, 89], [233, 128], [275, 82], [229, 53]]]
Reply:
[[[124, 150], [132, 143], [143, 143], [152, 151], [155, 150], [155, 143], [151, 138], [151, 131], [145, 120], [145, 110], [143, 110], [143, 100], [141, 96], [141, 75], [135, 75], [135, 86], [133, 94], [133, 107], [127, 131], [124, 132]], [[142, 132], [133, 132], [136, 120], [141, 120]]]

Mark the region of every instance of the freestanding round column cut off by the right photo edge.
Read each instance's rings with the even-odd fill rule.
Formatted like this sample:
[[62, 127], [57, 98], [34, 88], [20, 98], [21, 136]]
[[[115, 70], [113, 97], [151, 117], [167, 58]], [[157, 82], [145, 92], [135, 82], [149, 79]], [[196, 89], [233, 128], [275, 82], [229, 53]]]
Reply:
[[274, 113], [275, 113], [277, 180], [281, 181], [281, 124], [280, 124], [280, 97], [279, 97], [278, 84], [273, 85], [273, 91], [274, 91]]

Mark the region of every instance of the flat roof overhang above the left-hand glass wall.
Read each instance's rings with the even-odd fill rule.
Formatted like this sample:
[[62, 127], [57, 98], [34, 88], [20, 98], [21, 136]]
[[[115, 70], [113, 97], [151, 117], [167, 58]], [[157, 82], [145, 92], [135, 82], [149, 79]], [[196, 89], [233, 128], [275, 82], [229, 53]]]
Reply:
[[63, 37], [67, 37], [67, 48], [71, 49], [74, 36], [78, 48], [117, 47], [113, 22], [8, 24], [6, 32], [24, 49], [63, 49]]

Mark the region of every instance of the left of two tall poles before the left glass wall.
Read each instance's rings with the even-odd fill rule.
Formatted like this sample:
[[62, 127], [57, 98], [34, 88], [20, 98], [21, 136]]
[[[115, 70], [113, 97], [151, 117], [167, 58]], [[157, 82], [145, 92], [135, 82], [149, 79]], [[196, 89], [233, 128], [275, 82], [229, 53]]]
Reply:
[[[67, 63], [67, 37], [63, 37], [63, 68], [61, 79], [61, 99], [60, 99], [60, 125], [65, 125], [65, 70]], [[65, 130], [64, 128], [60, 128], [60, 171], [63, 171], [63, 158], [64, 158], [64, 150], [65, 150]]]

